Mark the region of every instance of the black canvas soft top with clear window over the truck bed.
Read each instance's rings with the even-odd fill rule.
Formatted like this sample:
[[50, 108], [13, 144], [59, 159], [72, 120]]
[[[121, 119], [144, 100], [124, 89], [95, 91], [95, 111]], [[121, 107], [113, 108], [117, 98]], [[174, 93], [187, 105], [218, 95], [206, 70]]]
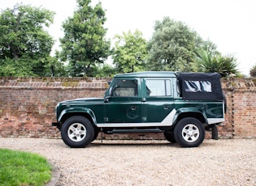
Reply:
[[218, 73], [179, 73], [177, 78], [185, 100], [223, 100]]

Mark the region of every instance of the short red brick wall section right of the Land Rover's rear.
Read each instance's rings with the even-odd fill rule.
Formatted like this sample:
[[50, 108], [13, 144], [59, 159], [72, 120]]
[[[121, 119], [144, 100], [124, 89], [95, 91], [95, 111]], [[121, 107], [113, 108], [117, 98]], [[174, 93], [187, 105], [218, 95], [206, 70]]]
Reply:
[[228, 111], [223, 125], [219, 126], [219, 137], [256, 137], [255, 82], [255, 78], [223, 79]]

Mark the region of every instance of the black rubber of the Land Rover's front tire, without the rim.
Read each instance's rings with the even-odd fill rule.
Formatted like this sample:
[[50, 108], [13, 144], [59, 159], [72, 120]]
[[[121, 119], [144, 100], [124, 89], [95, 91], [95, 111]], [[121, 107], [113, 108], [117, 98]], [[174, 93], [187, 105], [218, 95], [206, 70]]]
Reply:
[[[74, 124], [74, 123], [80, 123], [81, 125], [84, 125], [85, 129], [86, 129], [86, 135], [85, 138], [83, 140], [81, 140], [80, 142], [74, 142], [72, 141], [68, 135], [67, 135], [67, 131], [68, 128]], [[63, 142], [65, 142], [65, 144], [67, 146], [70, 146], [72, 148], [82, 148], [87, 146], [90, 142], [93, 141], [93, 137], [94, 137], [94, 129], [93, 129], [93, 125], [91, 124], [91, 122], [85, 118], [84, 116], [72, 116], [70, 118], [68, 118], [67, 120], [64, 121], [62, 128], [61, 128], [61, 137], [63, 139]]]

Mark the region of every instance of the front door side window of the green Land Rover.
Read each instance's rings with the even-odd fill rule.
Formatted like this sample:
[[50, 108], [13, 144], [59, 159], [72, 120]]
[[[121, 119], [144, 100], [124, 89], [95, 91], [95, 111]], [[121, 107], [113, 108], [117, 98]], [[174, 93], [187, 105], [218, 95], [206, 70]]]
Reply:
[[114, 97], [134, 97], [138, 96], [137, 79], [118, 79], [115, 82]]

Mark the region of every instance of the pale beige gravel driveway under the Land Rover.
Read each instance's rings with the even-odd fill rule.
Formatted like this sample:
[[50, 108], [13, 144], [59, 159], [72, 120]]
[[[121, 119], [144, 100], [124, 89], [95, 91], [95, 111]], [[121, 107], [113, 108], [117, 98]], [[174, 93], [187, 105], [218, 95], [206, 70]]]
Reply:
[[197, 148], [167, 141], [2, 138], [0, 148], [41, 154], [60, 171], [57, 185], [256, 185], [256, 139], [205, 140]]

